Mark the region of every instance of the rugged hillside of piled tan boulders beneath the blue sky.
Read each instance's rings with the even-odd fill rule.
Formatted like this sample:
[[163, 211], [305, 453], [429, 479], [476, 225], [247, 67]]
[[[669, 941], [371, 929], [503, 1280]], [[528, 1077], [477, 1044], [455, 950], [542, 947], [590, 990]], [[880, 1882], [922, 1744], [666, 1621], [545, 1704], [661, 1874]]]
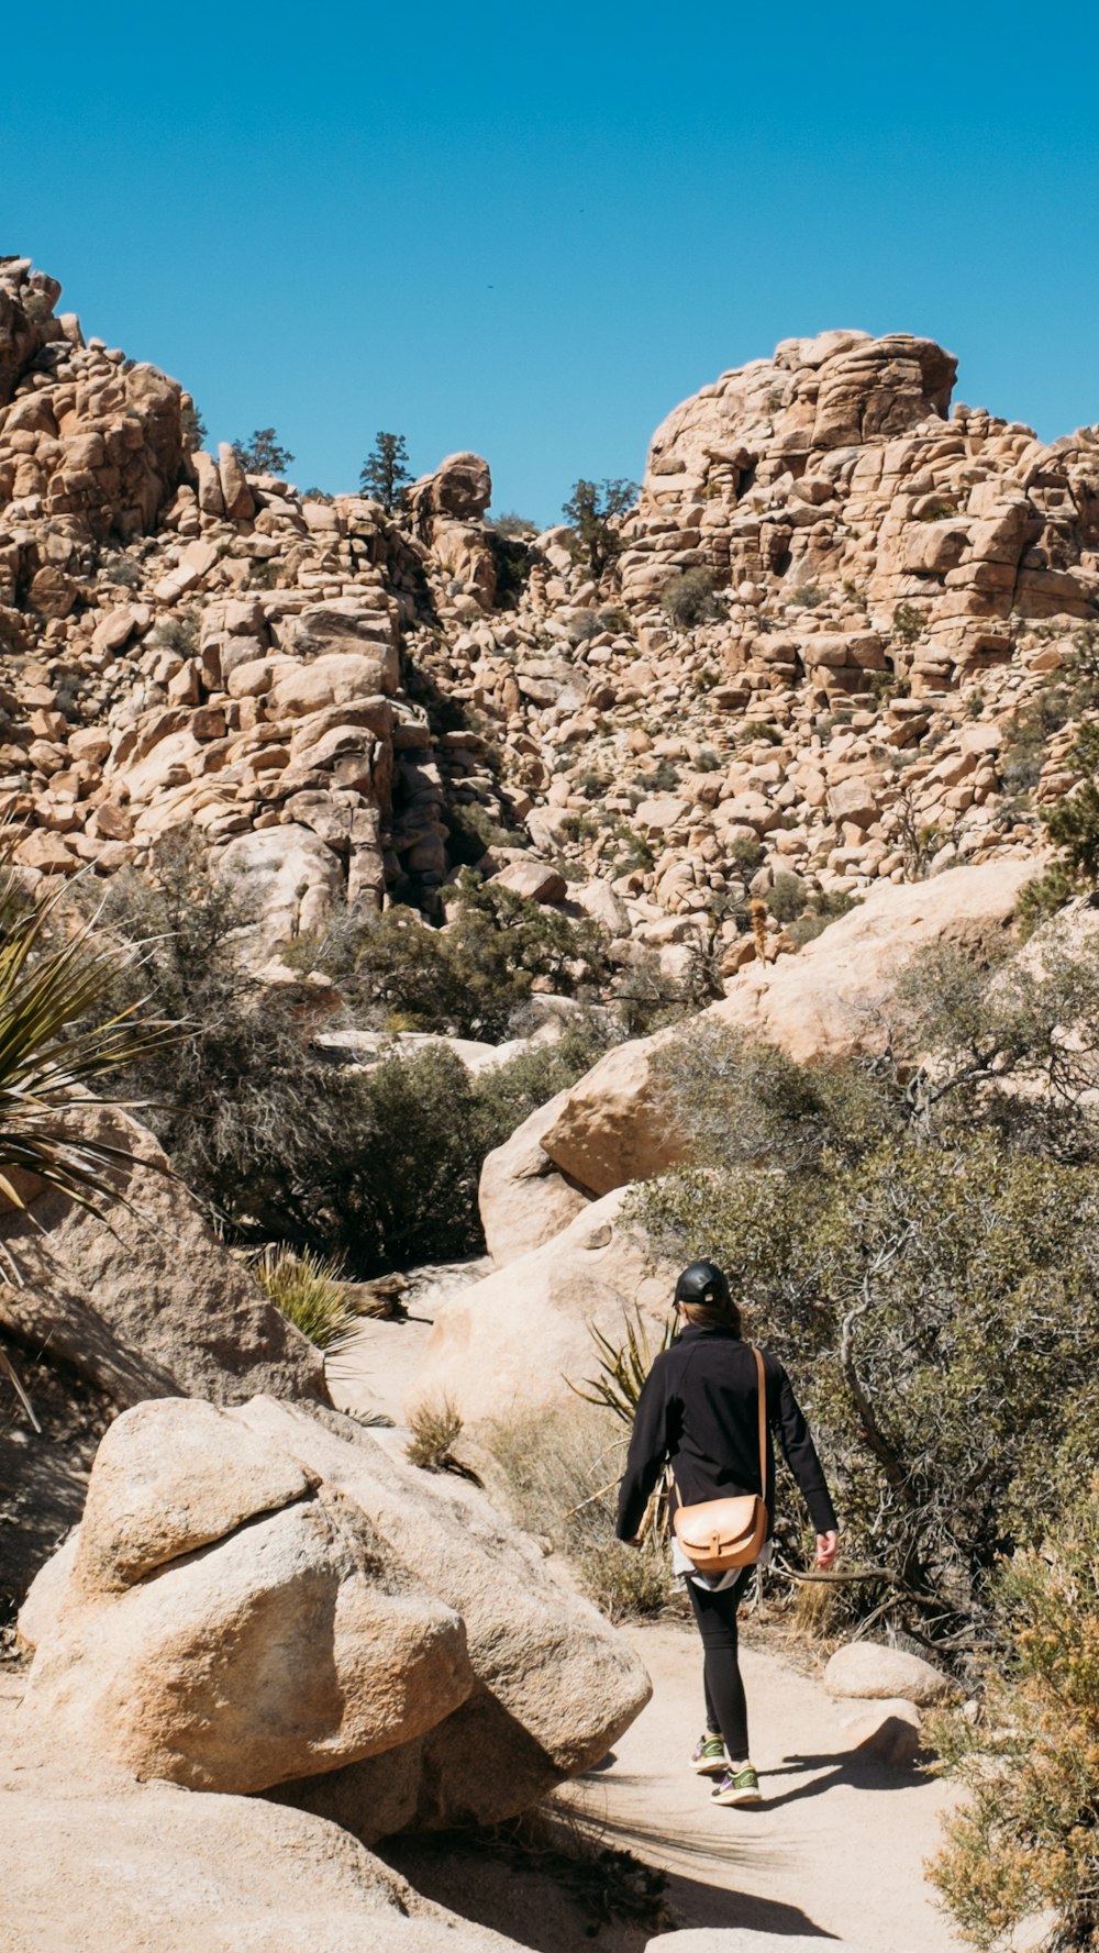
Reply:
[[431, 912], [480, 863], [621, 965], [728, 976], [806, 902], [1031, 853], [1072, 783], [1040, 701], [1091, 662], [1099, 432], [951, 408], [929, 340], [787, 340], [703, 389], [595, 578], [572, 531], [486, 521], [476, 455], [392, 519], [246, 475], [57, 303], [0, 260], [0, 793], [29, 869], [187, 830], [277, 949], [346, 904]]

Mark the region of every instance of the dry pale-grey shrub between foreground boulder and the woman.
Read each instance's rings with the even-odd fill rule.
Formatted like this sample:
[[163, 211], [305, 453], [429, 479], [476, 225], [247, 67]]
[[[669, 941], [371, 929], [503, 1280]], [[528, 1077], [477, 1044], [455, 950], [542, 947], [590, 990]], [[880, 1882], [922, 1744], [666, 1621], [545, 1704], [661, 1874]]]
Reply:
[[615, 1506], [627, 1437], [593, 1416], [531, 1412], [496, 1424], [490, 1449], [508, 1480], [513, 1517], [547, 1539], [574, 1568], [580, 1586], [611, 1621], [664, 1613], [675, 1605], [662, 1543], [625, 1547], [615, 1539]]

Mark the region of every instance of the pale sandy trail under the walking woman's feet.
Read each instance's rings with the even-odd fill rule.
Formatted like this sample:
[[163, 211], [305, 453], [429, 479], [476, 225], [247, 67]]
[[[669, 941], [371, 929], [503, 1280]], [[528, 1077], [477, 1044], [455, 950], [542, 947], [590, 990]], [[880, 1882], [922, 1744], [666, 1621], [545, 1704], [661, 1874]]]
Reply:
[[670, 1873], [679, 1926], [820, 1935], [875, 1953], [960, 1945], [921, 1873], [951, 1799], [945, 1785], [855, 1756], [843, 1726], [851, 1707], [753, 1646], [742, 1666], [765, 1803], [711, 1805], [707, 1779], [687, 1769], [703, 1724], [697, 1637], [691, 1627], [642, 1627], [631, 1641], [654, 1695], [586, 1779], [590, 1808], [617, 1842]]

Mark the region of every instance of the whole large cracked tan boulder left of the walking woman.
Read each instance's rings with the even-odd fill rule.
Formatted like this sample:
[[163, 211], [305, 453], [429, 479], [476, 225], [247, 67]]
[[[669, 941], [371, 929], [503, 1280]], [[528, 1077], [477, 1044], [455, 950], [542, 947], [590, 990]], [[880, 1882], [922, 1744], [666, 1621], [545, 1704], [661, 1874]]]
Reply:
[[648, 1699], [629, 1644], [472, 1486], [334, 1422], [264, 1396], [117, 1418], [20, 1615], [29, 1748], [293, 1785], [365, 1842], [498, 1822], [607, 1754]]

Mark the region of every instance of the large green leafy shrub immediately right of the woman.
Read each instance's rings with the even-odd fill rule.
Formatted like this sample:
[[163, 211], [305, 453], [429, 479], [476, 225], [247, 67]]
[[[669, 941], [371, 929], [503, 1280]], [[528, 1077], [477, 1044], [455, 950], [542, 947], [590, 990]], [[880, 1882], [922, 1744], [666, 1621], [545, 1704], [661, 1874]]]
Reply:
[[[996, 982], [986, 1008], [1007, 1031], [1031, 1012], [1009, 1076], [1048, 1080], [1072, 984], [1052, 976], [1015, 1006]], [[1005, 1115], [980, 1027], [974, 1043], [943, 1010], [933, 998], [894, 1025], [892, 1068], [798, 1066], [728, 1031], [670, 1047], [666, 1107], [693, 1152], [638, 1205], [683, 1260], [728, 1269], [752, 1334], [789, 1361], [851, 1553], [880, 1572], [843, 1590], [849, 1617], [960, 1660], [992, 1631], [997, 1558], [1042, 1537], [1058, 1478], [1089, 1455], [1099, 1148], [1079, 1107], [1072, 1158], [1037, 1148], [1029, 1121]]]

